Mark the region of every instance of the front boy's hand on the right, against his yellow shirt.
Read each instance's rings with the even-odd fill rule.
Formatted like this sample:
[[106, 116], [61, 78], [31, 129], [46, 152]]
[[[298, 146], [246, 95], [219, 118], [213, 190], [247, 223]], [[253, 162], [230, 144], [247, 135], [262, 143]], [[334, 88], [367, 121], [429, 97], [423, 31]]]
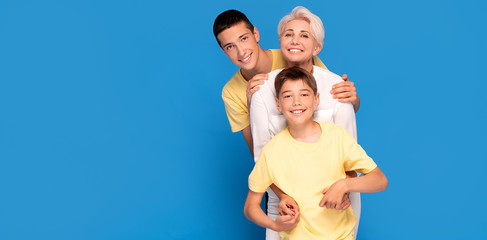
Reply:
[[320, 207], [344, 210], [346, 209], [344, 207], [350, 206], [350, 204], [347, 204], [347, 201], [350, 202], [350, 199], [346, 199], [348, 198], [346, 191], [346, 179], [336, 181], [330, 186], [330, 188], [323, 190], [323, 194], [325, 196], [323, 196], [320, 201]]

